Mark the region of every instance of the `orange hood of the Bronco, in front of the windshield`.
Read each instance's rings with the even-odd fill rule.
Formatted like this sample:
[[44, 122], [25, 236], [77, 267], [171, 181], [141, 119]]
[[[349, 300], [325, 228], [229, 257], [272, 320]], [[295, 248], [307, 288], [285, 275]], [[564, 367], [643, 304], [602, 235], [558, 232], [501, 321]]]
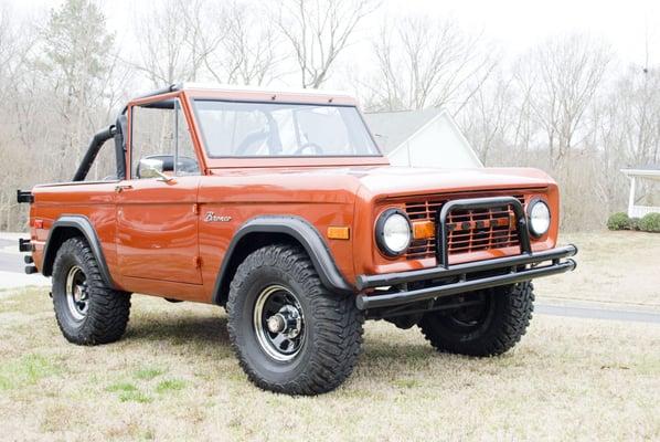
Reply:
[[[213, 177], [215, 176], [215, 177]], [[207, 188], [231, 189], [227, 201], [336, 201], [449, 193], [542, 189], [554, 185], [537, 169], [422, 169], [394, 166], [213, 169]], [[255, 191], [258, 189], [258, 192]]]

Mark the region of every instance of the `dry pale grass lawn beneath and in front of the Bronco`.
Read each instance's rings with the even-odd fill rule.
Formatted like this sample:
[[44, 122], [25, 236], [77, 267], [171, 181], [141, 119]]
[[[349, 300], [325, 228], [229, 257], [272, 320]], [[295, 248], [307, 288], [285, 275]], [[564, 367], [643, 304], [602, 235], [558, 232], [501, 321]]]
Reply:
[[540, 316], [513, 351], [472, 359], [368, 323], [345, 385], [290, 398], [246, 380], [217, 307], [135, 296], [121, 341], [77, 347], [47, 291], [31, 290], [0, 299], [0, 428], [8, 440], [652, 440], [658, 348], [654, 325]]

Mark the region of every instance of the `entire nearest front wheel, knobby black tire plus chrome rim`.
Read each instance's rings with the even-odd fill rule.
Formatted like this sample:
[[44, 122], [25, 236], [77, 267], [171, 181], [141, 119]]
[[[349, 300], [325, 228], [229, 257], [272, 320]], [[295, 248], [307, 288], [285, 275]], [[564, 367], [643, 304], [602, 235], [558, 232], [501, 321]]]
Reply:
[[263, 389], [318, 394], [355, 366], [363, 317], [354, 298], [330, 293], [299, 248], [248, 255], [232, 281], [227, 312], [241, 367]]

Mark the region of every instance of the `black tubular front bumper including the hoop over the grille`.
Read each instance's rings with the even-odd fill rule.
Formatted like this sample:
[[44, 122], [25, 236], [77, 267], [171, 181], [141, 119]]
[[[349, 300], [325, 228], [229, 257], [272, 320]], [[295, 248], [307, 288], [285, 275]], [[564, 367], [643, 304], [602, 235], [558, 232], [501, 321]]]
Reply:
[[[520, 254], [465, 264], [448, 264], [446, 220], [453, 210], [511, 207], [515, 213], [515, 228], [520, 239]], [[355, 285], [360, 292], [376, 287], [405, 287], [408, 283], [426, 282], [427, 286], [412, 291], [401, 290], [383, 294], [360, 294], [360, 309], [393, 307], [500, 285], [515, 284], [536, 277], [573, 271], [575, 261], [567, 259], [577, 253], [573, 244], [532, 252], [528, 220], [519, 200], [512, 197], [475, 198], [449, 201], [437, 217], [438, 266], [409, 272], [381, 275], [360, 275]], [[566, 259], [562, 261], [562, 259]]]

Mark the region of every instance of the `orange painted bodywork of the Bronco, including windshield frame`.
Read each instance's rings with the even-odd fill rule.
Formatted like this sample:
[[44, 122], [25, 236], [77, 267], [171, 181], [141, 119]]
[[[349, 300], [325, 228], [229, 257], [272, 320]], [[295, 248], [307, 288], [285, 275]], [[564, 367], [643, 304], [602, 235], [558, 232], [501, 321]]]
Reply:
[[[348, 96], [184, 88], [129, 103], [127, 146], [131, 146], [132, 106], [173, 97], [182, 104], [200, 175], [167, 182], [135, 179], [128, 167], [129, 176], [120, 181], [35, 187], [30, 215], [38, 269], [43, 266], [43, 248], [52, 224], [65, 214], [89, 220], [119, 288], [202, 303], [212, 303], [216, 295], [216, 280], [232, 240], [245, 222], [257, 217], [298, 217], [312, 225], [341, 276], [353, 287], [358, 275], [437, 265], [429, 244], [419, 245], [426, 249], [417, 255], [412, 251], [396, 257], [383, 254], [374, 229], [377, 217], [388, 208], [407, 210], [413, 217], [414, 204], [419, 202], [433, 207], [434, 201], [458, 198], [522, 196], [526, 203], [532, 197], [542, 198], [550, 207], [552, 222], [546, 234], [532, 239], [532, 250], [556, 244], [558, 190], [542, 171], [407, 169], [390, 166], [383, 156], [211, 158], [192, 102], [205, 98], [354, 106]], [[126, 154], [128, 165], [130, 151], [128, 148]], [[471, 225], [475, 229], [477, 224]], [[337, 227], [349, 229], [348, 240], [328, 238], [328, 229]], [[428, 235], [428, 225], [424, 231]], [[450, 254], [449, 260], [456, 264], [518, 253], [515, 245], [487, 246]]]

